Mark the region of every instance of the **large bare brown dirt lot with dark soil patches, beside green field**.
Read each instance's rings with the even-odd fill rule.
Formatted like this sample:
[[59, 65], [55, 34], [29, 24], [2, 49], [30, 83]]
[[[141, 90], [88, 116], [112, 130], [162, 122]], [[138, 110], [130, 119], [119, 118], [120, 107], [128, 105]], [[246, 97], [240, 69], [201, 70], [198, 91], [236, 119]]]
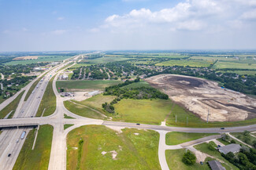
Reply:
[[205, 121], [208, 110], [209, 121], [256, 118], [256, 99], [221, 89], [217, 82], [174, 74], [161, 74], [147, 78], [146, 81]]

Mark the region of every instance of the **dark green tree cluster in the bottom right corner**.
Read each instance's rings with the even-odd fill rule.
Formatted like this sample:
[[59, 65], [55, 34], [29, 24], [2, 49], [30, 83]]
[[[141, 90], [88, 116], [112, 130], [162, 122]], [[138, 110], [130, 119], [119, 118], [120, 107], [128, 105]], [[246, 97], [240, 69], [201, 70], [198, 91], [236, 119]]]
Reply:
[[232, 152], [221, 155], [239, 169], [256, 170], [256, 150], [242, 146], [240, 151], [241, 152], [236, 155]]

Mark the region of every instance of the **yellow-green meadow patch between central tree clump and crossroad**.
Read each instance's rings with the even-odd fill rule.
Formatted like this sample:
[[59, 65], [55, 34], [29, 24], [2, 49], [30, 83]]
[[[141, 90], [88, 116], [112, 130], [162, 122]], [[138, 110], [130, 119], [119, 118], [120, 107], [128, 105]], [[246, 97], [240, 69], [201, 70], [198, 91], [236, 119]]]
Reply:
[[118, 115], [113, 121], [160, 125], [168, 116], [172, 102], [169, 99], [122, 99], [114, 107]]

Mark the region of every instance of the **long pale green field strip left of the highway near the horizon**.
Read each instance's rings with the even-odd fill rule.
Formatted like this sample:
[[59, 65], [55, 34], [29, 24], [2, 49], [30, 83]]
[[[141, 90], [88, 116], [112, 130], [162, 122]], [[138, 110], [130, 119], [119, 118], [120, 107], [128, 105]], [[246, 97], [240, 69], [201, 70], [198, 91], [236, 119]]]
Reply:
[[71, 56], [39, 56], [38, 59], [35, 60], [16, 60], [5, 63], [5, 65], [16, 65], [16, 64], [28, 64], [28, 63], [38, 63], [38, 62], [54, 62], [54, 61], [62, 61], [70, 58]]

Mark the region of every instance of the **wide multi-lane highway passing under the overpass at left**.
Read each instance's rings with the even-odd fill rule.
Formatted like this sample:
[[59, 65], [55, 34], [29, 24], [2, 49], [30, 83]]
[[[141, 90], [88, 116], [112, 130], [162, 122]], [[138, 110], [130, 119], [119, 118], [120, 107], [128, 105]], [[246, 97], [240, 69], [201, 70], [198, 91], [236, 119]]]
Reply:
[[[50, 70], [45, 75], [45, 77], [41, 81], [39, 81], [38, 85], [36, 85], [35, 89], [33, 90], [32, 94], [28, 97], [27, 101], [24, 101], [24, 97], [26, 96], [28, 90], [30, 89], [30, 87], [32, 86], [34, 81], [36, 81], [37, 78], [35, 78], [34, 81], [32, 81], [26, 87], [24, 87], [26, 92], [24, 92], [24, 95], [20, 99], [20, 103], [17, 107], [17, 111], [13, 115], [13, 120], [19, 120], [20, 118], [35, 117], [35, 114], [37, 113], [37, 110], [39, 108], [39, 104], [43, 98], [43, 93], [46, 90], [46, 86], [48, 85], [50, 78], [52, 78], [53, 75], [56, 74], [61, 67], [64, 67], [66, 64], [69, 64], [69, 63], [70, 62], [68, 63], [63, 62], [60, 65], [54, 67], [52, 70]], [[5, 105], [1, 105], [1, 106], [3, 106], [4, 108]], [[9, 120], [12, 120], [12, 119], [6, 119], [6, 121], [9, 121]], [[17, 160], [17, 157], [20, 153], [20, 150], [25, 140], [25, 138], [20, 139], [20, 135], [22, 132], [26, 131], [26, 136], [27, 136], [30, 130], [31, 128], [19, 128], [19, 129], [12, 128], [12, 129], [3, 130], [2, 134], [0, 135], [0, 144], [1, 144], [0, 145], [0, 169], [13, 168], [13, 165]], [[18, 142], [17, 142], [17, 139], [19, 139]], [[11, 156], [8, 157], [7, 156], [8, 154], [11, 154]]]

